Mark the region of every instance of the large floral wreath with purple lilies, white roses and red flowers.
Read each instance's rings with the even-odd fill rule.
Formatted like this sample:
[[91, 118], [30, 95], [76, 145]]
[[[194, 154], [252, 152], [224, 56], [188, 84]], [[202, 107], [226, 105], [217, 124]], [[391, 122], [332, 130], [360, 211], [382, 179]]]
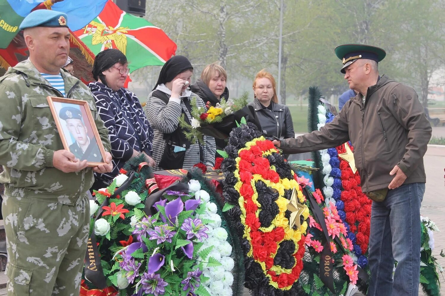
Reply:
[[[200, 175], [200, 181], [174, 183], [147, 197], [153, 179], [144, 162], [138, 165], [141, 160], [130, 160], [121, 170], [134, 170], [130, 173], [135, 178], [120, 174], [95, 192], [97, 201], [109, 206], [98, 209], [96, 201], [90, 202], [91, 231], [109, 286], [102, 291], [120, 296], [231, 296], [238, 285], [232, 270], [239, 268], [210, 183]], [[82, 291], [89, 287], [94, 284], [85, 278]]]

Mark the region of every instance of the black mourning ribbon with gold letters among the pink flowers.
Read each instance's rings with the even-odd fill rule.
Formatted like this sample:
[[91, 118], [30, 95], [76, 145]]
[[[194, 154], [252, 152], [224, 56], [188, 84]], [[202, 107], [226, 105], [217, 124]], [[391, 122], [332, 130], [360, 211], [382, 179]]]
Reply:
[[[333, 268], [332, 268], [332, 252], [331, 245], [329, 243], [329, 234], [328, 234], [328, 226], [326, 226], [326, 222], [324, 221], [324, 215], [320, 206], [317, 204], [315, 198], [306, 188], [303, 188], [304, 196], [309, 200], [309, 204], [314, 214], [315, 221], [320, 224], [321, 229], [323, 229], [324, 236], [321, 239], [321, 244], [323, 245], [323, 251], [320, 254], [320, 279], [323, 284], [331, 290], [331, 292], [335, 293], [334, 288], [334, 278], [332, 276]], [[336, 237], [334, 241], [340, 246], [340, 250], [346, 255], [346, 252], [343, 249], [343, 245], [340, 242], [340, 239]], [[364, 282], [368, 281], [368, 275], [360, 266], [357, 265], [358, 276], [364, 280]]]

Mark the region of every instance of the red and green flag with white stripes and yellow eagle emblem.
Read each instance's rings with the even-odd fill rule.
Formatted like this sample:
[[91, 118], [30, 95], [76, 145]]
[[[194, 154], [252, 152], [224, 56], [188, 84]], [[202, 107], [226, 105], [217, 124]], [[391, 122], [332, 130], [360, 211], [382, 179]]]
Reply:
[[111, 0], [102, 12], [81, 30], [74, 32], [95, 54], [116, 48], [130, 63], [130, 71], [163, 65], [176, 51], [176, 44], [147, 20], [123, 12]]

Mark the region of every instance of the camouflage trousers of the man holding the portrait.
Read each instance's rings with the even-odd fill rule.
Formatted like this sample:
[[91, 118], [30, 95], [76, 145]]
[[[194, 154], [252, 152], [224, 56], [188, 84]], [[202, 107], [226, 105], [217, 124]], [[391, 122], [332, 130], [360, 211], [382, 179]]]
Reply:
[[89, 234], [89, 201], [75, 205], [5, 196], [8, 296], [78, 296]]

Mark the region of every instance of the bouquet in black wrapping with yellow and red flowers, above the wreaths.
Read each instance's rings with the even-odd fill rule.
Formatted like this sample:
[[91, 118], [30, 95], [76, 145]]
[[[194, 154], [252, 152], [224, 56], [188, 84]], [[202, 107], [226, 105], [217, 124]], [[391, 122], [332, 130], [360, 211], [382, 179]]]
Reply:
[[260, 126], [256, 118], [255, 112], [247, 106], [248, 93], [245, 92], [238, 99], [229, 99], [227, 102], [223, 98], [215, 107], [210, 106], [210, 102], [206, 103], [206, 107], [197, 107], [196, 100], [191, 101], [191, 122], [187, 122], [184, 114], [179, 118], [179, 125], [185, 129], [186, 138], [196, 143], [203, 143], [203, 135], [213, 138], [225, 139], [236, 122], [241, 118], [254, 122], [256, 126]]

